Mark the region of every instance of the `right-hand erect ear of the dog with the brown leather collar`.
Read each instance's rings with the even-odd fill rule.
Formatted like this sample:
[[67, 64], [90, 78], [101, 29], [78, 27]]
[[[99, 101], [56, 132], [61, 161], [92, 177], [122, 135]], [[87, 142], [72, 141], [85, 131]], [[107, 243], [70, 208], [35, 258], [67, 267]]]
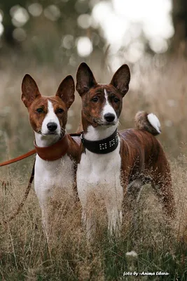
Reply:
[[75, 84], [74, 84], [74, 79], [71, 75], [68, 75], [60, 83], [60, 86], [57, 89], [56, 96], [62, 98], [64, 103], [67, 105], [67, 108], [69, 108], [72, 105], [72, 103], [74, 103]]

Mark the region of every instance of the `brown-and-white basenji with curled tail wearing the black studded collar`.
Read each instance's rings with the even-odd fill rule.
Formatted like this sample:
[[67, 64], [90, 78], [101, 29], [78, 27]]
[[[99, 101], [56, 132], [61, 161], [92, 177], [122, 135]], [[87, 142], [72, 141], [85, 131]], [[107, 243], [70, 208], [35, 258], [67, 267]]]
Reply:
[[93, 237], [96, 227], [93, 198], [104, 200], [109, 233], [117, 235], [126, 198], [137, 198], [146, 182], [151, 182], [165, 212], [174, 216], [169, 164], [155, 138], [160, 133], [158, 118], [139, 112], [135, 120], [137, 129], [117, 131], [123, 97], [129, 89], [129, 67], [122, 65], [110, 84], [97, 84], [88, 65], [81, 63], [76, 79], [83, 124], [77, 188], [88, 239]]

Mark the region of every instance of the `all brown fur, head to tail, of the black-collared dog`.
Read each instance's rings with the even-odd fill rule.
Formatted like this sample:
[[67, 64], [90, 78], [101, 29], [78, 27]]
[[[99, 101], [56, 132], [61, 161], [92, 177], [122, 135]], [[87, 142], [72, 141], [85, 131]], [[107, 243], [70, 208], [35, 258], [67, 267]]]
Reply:
[[[104, 89], [109, 97], [117, 97], [119, 102], [114, 105], [112, 98], [109, 103], [119, 117], [123, 105], [123, 97], [129, 89], [130, 70], [127, 65], [122, 65], [113, 75], [108, 85], [97, 84], [92, 71], [85, 63], [78, 67], [76, 89], [83, 102], [82, 124], [86, 132], [89, 125], [101, 126], [100, 113], [103, 108]], [[97, 103], [92, 102], [94, 96], [99, 96]], [[166, 214], [173, 217], [175, 211], [172, 181], [165, 152], [160, 142], [153, 136], [158, 132], [148, 122], [146, 112], [138, 112], [135, 117], [137, 129], [120, 131], [121, 155], [121, 183], [124, 190], [124, 204], [126, 202], [127, 185], [133, 181], [151, 182], [155, 194], [162, 202]], [[81, 153], [84, 152], [81, 144]], [[80, 155], [81, 159], [81, 155]], [[80, 162], [80, 159], [78, 162]]]

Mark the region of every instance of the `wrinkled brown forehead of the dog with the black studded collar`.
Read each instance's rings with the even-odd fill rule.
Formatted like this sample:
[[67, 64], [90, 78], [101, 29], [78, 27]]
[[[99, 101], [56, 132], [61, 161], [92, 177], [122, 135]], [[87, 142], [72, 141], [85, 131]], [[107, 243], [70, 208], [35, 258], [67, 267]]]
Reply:
[[90, 93], [90, 96], [99, 94], [104, 97], [107, 97], [107, 96], [110, 96], [113, 94], [115, 96], [118, 96], [119, 98], [121, 97], [118, 90], [114, 86], [109, 85], [109, 84], [97, 84], [97, 86], [90, 89], [89, 93]]

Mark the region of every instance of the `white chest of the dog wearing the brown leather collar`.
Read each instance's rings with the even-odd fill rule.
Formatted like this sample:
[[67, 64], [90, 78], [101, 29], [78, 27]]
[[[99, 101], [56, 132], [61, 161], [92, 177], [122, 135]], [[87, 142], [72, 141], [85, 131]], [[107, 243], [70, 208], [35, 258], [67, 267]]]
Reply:
[[55, 161], [45, 161], [36, 155], [34, 189], [40, 201], [61, 189], [73, 195], [74, 161], [64, 155]]

